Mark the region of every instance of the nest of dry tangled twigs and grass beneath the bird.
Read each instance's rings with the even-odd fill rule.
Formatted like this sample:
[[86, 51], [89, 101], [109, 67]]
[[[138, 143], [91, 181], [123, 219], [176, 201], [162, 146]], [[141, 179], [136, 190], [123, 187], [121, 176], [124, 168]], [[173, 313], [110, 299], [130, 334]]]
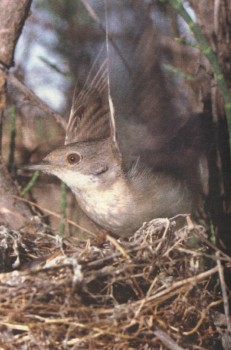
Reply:
[[1, 349], [230, 345], [230, 259], [190, 220], [156, 219], [102, 242], [1, 226], [0, 241]]

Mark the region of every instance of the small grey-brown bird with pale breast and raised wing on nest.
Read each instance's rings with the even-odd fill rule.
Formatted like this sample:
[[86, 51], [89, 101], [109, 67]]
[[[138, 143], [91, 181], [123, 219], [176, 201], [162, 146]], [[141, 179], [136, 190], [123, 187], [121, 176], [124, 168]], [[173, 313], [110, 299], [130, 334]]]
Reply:
[[75, 89], [64, 145], [27, 168], [58, 177], [98, 227], [129, 237], [154, 218], [191, 213], [195, 200], [184, 177], [139, 161], [125, 166], [103, 66], [90, 83]]

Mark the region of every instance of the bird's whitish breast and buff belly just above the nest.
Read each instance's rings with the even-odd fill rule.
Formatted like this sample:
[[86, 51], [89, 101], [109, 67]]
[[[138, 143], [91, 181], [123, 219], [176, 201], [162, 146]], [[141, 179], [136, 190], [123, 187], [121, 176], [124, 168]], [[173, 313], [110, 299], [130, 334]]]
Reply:
[[93, 221], [120, 236], [129, 236], [154, 218], [190, 213], [191, 196], [182, 182], [163, 174], [141, 180], [130, 179], [128, 186], [120, 179], [110, 189], [85, 188], [76, 199]]

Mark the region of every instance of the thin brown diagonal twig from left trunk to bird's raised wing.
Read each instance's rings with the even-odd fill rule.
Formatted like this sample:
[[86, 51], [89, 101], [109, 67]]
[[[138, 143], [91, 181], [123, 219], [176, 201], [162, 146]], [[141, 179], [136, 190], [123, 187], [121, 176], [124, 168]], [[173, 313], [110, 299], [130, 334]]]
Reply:
[[60, 124], [64, 130], [66, 130], [67, 123], [65, 119], [57, 112], [54, 112], [50, 107], [48, 107], [35, 93], [29, 89], [25, 84], [23, 84], [15, 75], [9, 74], [9, 81], [20, 90], [25, 97], [32, 103], [34, 103], [38, 108], [47, 113], [49, 116], [54, 118], [58, 124]]

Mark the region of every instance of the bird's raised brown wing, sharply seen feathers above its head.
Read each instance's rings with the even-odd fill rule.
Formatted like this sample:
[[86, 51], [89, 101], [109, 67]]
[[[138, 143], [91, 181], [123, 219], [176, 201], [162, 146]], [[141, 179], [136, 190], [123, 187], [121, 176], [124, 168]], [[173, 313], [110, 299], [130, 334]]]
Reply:
[[65, 145], [81, 141], [102, 140], [111, 136], [107, 74], [107, 62], [105, 61], [88, 86], [82, 89], [76, 88], [67, 125]]

